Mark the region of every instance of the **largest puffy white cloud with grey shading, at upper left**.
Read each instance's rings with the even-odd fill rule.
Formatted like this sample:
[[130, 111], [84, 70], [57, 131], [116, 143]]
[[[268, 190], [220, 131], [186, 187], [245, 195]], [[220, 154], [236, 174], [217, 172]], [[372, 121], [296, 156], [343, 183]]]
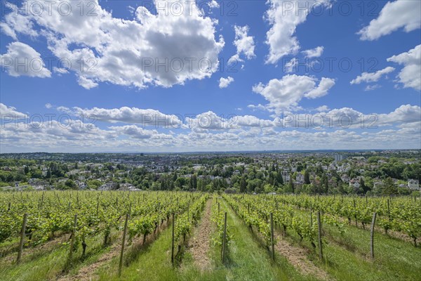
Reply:
[[[34, 2], [44, 7], [53, 5], [51, 13], [25, 13], [23, 5]], [[1, 27], [16, 37], [36, 26], [37, 39], [44, 38], [56, 58], [67, 60], [67, 70], [74, 72], [86, 89], [100, 82], [138, 89], [149, 85], [171, 87], [205, 79], [218, 70], [218, 54], [225, 42], [216, 35], [217, 20], [203, 15], [195, 1], [156, 0], [156, 14], [140, 6], [133, 20], [115, 18], [98, 0], [90, 1], [95, 13], [65, 15], [60, 13], [59, 2], [25, 0], [11, 12], [23, 23], [15, 25], [16, 16], [8, 13]], [[173, 11], [175, 2], [182, 7]], [[80, 9], [77, 1], [66, 4], [72, 11]]]

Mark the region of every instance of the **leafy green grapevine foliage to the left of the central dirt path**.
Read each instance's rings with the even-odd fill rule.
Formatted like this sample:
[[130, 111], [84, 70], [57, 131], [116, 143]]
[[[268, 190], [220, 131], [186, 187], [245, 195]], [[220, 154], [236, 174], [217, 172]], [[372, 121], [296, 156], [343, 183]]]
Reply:
[[131, 218], [128, 225], [130, 239], [141, 234], [145, 240], [159, 224], [168, 221], [171, 214], [185, 212], [190, 204], [192, 216], [197, 219], [196, 206], [203, 205], [203, 200], [203, 196], [187, 192], [2, 193], [0, 248], [2, 242], [18, 239], [24, 214], [27, 214], [24, 233], [27, 246], [36, 247], [55, 236], [69, 234], [74, 249], [81, 244], [82, 254], [85, 254], [87, 238], [102, 233], [104, 244], [109, 243], [112, 230], [123, 229], [125, 214]]

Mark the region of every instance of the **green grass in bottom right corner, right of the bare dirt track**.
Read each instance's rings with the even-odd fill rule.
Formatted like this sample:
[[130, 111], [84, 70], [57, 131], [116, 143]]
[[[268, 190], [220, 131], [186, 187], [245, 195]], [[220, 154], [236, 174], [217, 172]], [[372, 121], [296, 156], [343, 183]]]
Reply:
[[355, 226], [345, 226], [345, 232], [323, 225], [323, 255], [318, 249], [288, 230], [290, 244], [309, 249], [308, 258], [335, 280], [396, 281], [421, 280], [421, 248], [410, 242], [375, 233], [375, 259], [370, 257], [370, 232]]

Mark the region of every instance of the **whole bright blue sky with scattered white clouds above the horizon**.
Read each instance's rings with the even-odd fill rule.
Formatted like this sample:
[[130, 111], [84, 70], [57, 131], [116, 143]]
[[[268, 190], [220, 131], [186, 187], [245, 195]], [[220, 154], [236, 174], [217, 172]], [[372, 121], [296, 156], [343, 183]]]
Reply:
[[2, 1], [1, 152], [421, 148], [420, 3]]

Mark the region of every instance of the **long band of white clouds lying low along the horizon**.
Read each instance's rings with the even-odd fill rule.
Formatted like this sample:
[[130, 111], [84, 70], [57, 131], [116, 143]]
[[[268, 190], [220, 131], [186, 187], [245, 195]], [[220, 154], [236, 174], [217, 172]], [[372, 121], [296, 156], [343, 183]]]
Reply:
[[[325, 108], [326, 109], [326, 108]], [[0, 113], [25, 116], [15, 107], [0, 103]], [[366, 115], [361, 132], [361, 112], [344, 107], [321, 112], [312, 119], [320, 125], [317, 131], [293, 119], [265, 120], [258, 117], [218, 116], [204, 112], [189, 119], [182, 133], [161, 129], [145, 129], [136, 124], [108, 126], [75, 120], [71, 124], [4, 122], [1, 128], [2, 152], [104, 152], [104, 151], [194, 151], [194, 150], [267, 150], [279, 149], [373, 149], [417, 148], [421, 143], [421, 108], [401, 105], [385, 114]], [[347, 118], [344, 118], [347, 116]], [[376, 117], [377, 116], [377, 117]], [[293, 115], [293, 118], [297, 115]], [[349, 117], [349, 118], [348, 118]], [[370, 118], [368, 118], [370, 117]], [[372, 118], [375, 117], [375, 118]], [[19, 117], [21, 118], [21, 117]], [[26, 117], [27, 118], [27, 117]], [[330, 121], [319, 122], [323, 118]], [[118, 118], [120, 119], [120, 118]], [[130, 120], [130, 119], [128, 119]], [[349, 126], [348, 126], [349, 124]], [[379, 131], [373, 126], [385, 126]], [[311, 128], [311, 127], [310, 127]], [[333, 129], [325, 131], [324, 129]], [[358, 131], [355, 131], [358, 129]], [[83, 143], [83, 146], [80, 144]]]

